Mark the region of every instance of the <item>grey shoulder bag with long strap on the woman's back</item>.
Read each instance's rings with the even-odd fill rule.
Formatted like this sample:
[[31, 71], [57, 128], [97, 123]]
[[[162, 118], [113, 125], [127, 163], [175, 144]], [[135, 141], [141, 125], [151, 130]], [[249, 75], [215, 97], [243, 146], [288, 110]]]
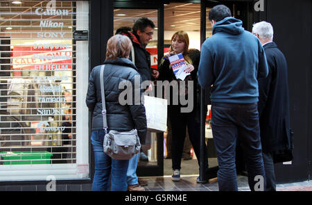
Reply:
[[105, 137], [103, 148], [105, 154], [117, 159], [128, 160], [135, 156], [140, 151], [141, 143], [137, 135], [137, 129], [131, 131], [114, 131], [107, 133], [107, 117], [105, 107], [105, 89], [104, 89], [104, 67], [101, 67], [100, 81], [101, 81], [101, 98], [102, 98], [102, 115], [103, 115], [103, 129], [105, 129]]

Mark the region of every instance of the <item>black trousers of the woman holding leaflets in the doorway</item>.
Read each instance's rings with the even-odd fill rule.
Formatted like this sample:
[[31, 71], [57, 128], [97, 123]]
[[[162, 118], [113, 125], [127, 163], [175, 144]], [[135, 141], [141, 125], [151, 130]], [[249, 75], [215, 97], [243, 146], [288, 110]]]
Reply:
[[[172, 142], [171, 156], [173, 170], [181, 169], [181, 158], [184, 147], [184, 139], [189, 131], [189, 140], [200, 165], [200, 122], [196, 119], [196, 110], [191, 113], [181, 113], [180, 106], [168, 106], [168, 117], [171, 122]], [[205, 172], [208, 170], [207, 146], [204, 146]]]

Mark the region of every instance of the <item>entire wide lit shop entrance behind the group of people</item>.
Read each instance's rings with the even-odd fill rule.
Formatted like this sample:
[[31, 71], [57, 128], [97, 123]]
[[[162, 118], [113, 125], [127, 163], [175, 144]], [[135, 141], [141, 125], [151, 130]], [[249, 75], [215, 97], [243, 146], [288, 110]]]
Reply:
[[[189, 49], [198, 49], [206, 38], [212, 35], [212, 28], [207, 16], [209, 10], [217, 4], [227, 5], [234, 13], [234, 17], [247, 17], [247, 3], [236, 1], [114, 1], [114, 33], [121, 26], [132, 28], [134, 22], [140, 17], [148, 17], [155, 24], [153, 39], [146, 49], [151, 55], [151, 67], [156, 68], [171, 45], [171, 37], [176, 31], [186, 31], [189, 35]], [[237, 9], [239, 8], [239, 10]], [[247, 29], [247, 28], [245, 28]], [[218, 165], [216, 151], [210, 126], [210, 106], [207, 106], [205, 119], [202, 119], [202, 131], [205, 144], [208, 147], [209, 167]], [[207, 114], [207, 115], [206, 115]], [[200, 139], [198, 139], [200, 140]], [[137, 174], [139, 177], [171, 176], [172, 161], [170, 157], [171, 145], [170, 130], [164, 133], [150, 133], [147, 145], [143, 146], [144, 158], [139, 160]], [[182, 159], [182, 176], [198, 176], [200, 173], [198, 161], [194, 154], [189, 138], [184, 142]]]

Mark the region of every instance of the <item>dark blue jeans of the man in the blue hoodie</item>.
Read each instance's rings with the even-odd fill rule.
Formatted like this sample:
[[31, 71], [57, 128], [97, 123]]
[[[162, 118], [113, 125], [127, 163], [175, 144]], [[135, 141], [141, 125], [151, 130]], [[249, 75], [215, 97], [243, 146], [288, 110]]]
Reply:
[[257, 175], [263, 177], [261, 188], [266, 189], [257, 107], [257, 103], [212, 103], [211, 128], [218, 156], [219, 190], [238, 190], [235, 165], [237, 140], [243, 147], [250, 190], [259, 185]]

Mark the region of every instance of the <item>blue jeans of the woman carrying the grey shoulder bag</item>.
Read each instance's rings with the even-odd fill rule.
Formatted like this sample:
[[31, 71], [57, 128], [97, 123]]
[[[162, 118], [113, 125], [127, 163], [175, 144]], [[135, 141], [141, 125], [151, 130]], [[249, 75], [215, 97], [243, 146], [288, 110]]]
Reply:
[[94, 191], [127, 190], [128, 160], [114, 160], [103, 151], [105, 131], [92, 131], [95, 172], [92, 184]]

